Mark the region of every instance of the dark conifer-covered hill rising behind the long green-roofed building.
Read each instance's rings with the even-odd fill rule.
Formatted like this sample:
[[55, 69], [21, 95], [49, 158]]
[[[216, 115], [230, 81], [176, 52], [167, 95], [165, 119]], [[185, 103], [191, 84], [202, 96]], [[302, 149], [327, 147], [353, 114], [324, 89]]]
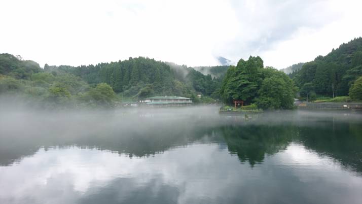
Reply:
[[[172, 68], [171, 68], [172, 67]], [[89, 66], [49, 66], [45, 71], [66, 72], [81, 77], [89, 84], [104, 82], [115, 92], [127, 97], [179, 95], [193, 97], [196, 93], [209, 96], [218, 80], [191, 67], [138, 57]]]

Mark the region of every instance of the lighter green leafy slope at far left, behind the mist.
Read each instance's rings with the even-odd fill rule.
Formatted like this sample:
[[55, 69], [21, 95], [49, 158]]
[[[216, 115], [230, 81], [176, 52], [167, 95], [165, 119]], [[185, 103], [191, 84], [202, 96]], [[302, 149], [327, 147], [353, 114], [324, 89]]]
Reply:
[[49, 73], [39, 64], [11, 54], [0, 54], [0, 67], [0, 97], [6, 96], [2, 103], [62, 109], [111, 107], [115, 102], [115, 92], [105, 83], [91, 86], [73, 74]]

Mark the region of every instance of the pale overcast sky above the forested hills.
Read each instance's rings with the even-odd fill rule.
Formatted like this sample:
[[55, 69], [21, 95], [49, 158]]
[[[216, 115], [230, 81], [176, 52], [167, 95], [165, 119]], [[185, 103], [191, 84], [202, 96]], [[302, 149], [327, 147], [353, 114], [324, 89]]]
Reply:
[[360, 0], [1, 0], [0, 53], [41, 66], [259, 55], [280, 69], [362, 36], [361, 8]]

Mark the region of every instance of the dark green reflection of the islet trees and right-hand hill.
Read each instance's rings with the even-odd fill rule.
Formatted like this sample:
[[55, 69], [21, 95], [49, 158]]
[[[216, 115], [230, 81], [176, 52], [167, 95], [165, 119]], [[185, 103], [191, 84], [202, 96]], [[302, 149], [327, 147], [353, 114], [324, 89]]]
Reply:
[[362, 173], [360, 124], [324, 120], [318, 125], [250, 125], [220, 127], [229, 151], [251, 166], [266, 155], [285, 150], [291, 142], [336, 159], [346, 168]]

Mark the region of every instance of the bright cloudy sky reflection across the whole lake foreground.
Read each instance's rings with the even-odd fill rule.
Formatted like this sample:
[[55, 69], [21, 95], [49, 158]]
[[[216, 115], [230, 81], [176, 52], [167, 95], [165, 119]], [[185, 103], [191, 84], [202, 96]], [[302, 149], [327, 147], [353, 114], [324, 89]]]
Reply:
[[0, 186], [6, 186], [2, 203], [359, 203], [362, 198], [361, 177], [295, 143], [254, 167], [216, 144], [196, 144], [143, 158], [41, 148], [0, 169]]

